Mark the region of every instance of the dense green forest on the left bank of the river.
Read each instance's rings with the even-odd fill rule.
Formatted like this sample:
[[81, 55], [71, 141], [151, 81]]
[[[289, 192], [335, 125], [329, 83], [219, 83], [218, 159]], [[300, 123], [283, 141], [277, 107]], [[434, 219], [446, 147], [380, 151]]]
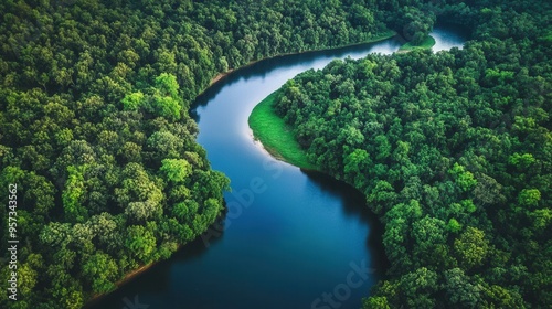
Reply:
[[[188, 111], [216, 74], [391, 30], [416, 42], [440, 4], [1, 1], [0, 241], [19, 241], [19, 286], [9, 300], [3, 251], [0, 307], [79, 308], [215, 221], [229, 180]], [[535, 115], [528, 128], [546, 116]]]

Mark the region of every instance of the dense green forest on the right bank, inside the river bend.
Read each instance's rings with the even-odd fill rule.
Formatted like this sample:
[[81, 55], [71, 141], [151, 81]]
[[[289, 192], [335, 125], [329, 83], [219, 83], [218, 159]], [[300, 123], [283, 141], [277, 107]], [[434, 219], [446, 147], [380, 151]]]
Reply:
[[364, 308], [552, 305], [552, 3], [467, 3], [434, 11], [470, 30], [461, 50], [336, 60], [276, 93], [308, 159], [385, 225]]

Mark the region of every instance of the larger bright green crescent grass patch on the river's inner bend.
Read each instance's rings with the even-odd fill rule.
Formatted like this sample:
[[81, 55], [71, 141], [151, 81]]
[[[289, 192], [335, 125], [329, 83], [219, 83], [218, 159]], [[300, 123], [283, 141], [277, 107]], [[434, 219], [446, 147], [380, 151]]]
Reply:
[[274, 111], [276, 94], [272, 93], [253, 108], [248, 119], [253, 136], [275, 158], [299, 168], [316, 170], [307, 160], [307, 152], [295, 139], [293, 129]]

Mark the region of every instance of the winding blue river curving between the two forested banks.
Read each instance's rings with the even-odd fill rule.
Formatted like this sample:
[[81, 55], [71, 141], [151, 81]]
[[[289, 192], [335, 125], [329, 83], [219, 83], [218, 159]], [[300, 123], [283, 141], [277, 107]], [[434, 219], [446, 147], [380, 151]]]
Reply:
[[[437, 41], [448, 38], [444, 30], [436, 33]], [[337, 57], [392, 53], [399, 45], [392, 39], [264, 61], [200, 96], [192, 111], [198, 140], [213, 169], [232, 181], [224, 227], [95, 307], [359, 308], [386, 268], [378, 220], [352, 188], [274, 160], [253, 141], [247, 118], [258, 102], [302, 71]]]

